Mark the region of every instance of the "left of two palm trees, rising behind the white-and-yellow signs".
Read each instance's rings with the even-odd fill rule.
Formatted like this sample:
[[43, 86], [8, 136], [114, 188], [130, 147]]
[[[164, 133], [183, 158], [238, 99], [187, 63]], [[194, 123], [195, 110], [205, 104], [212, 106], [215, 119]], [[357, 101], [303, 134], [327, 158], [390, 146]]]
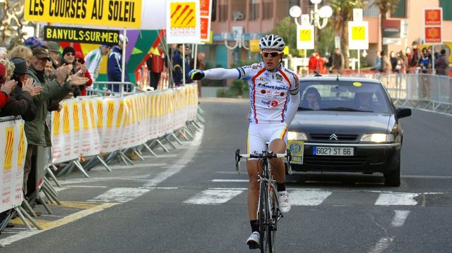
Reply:
[[[365, 1], [365, 0], [364, 0]], [[353, 19], [353, 9], [362, 8], [363, 0], [331, 0], [329, 5], [333, 8], [333, 23], [336, 35], [340, 37], [340, 48], [345, 58], [345, 68], [349, 66], [348, 60], [348, 21]]]

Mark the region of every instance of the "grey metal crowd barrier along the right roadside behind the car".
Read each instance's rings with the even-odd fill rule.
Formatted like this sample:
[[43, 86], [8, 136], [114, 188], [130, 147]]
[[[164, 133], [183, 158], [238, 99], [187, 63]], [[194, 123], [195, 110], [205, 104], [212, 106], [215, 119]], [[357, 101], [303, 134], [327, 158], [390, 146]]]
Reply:
[[398, 106], [452, 113], [452, 80], [446, 75], [365, 73], [342, 76], [380, 80]]

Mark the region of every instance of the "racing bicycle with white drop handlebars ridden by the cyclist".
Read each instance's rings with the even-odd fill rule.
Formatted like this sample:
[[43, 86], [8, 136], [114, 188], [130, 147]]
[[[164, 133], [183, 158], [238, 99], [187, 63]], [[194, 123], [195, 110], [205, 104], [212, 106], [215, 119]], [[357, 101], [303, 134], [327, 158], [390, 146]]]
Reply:
[[275, 235], [277, 224], [280, 218], [283, 218], [278, 203], [278, 191], [276, 190], [276, 181], [271, 173], [271, 166], [268, 159], [285, 158], [287, 160], [287, 171], [292, 174], [290, 168], [290, 151], [287, 149], [285, 154], [275, 154], [273, 152], [264, 151], [261, 154], [240, 154], [240, 149], [235, 152], [235, 166], [237, 173], [239, 173], [240, 159], [252, 158], [258, 159], [258, 164], [261, 164], [262, 175], [259, 175], [259, 199], [258, 199], [258, 223], [259, 234], [261, 235], [259, 245], [261, 252], [272, 253], [275, 252]]

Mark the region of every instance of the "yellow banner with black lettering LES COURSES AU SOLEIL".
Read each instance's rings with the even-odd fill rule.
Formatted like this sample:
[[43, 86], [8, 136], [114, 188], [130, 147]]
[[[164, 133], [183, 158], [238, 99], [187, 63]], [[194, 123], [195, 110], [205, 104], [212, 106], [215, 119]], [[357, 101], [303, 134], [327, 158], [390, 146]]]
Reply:
[[25, 20], [139, 28], [142, 0], [27, 0]]

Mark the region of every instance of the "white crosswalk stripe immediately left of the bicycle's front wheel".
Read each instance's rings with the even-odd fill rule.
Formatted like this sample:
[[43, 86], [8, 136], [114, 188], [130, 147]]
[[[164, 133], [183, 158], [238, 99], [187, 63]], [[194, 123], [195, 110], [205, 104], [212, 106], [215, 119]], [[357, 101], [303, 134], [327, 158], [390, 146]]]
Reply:
[[210, 188], [187, 199], [184, 204], [223, 204], [242, 192], [244, 190], [238, 190], [237, 188]]

